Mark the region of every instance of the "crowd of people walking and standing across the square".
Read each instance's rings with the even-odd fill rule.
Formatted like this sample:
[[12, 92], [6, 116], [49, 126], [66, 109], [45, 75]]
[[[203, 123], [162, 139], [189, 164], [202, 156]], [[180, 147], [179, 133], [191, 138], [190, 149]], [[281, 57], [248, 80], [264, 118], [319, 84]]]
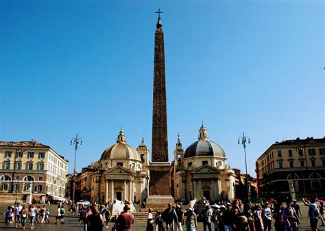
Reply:
[[[324, 226], [324, 201], [318, 200], [320, 206], [316, 204], [315, 198], [310, 201], [303, 199], [305, 206], [309, 207], [307, 216], [310, 220], [311, 230], [317, 229], [317, 222], [320, 219]], [[85, 231], [101, 231], [108, 228], [109, 222], [114, 220], [112, 230], [125, 231], [132, 230], [134, 215], [130, 213], [130, 204], [125, 204], [123, 212], [112, 219], [110, 215], [110, 204], [93, 203], [90, 206], [71, 205], [69, 210], [74, 216], [79, 213], [78, 223], [84, 226]], [[286, 206], [282, 202], [264, 202], [261, 204], [242, 204], [241, 200], [233, 200], [220, 204], [206, 204], [204, 210], [197, 211], [189, 207], [182, 210], [180, 204], [168, 204], [165, 210], [148, 208], [147, 231], [195, 231], [197, 221], [202, 221], [203, 231], [269, 231], [274, 226], [278, 231], [299, 230], [300, 219], [303, 216], [299, 204], [296, 200], [287, 201]], [[55, 224], [60, 221], [64, 224], [66, 211], [64, 205], [58, 205], [56, 210]], [[35, 223], [50, 223], [49, 209], [43, 206], [32, 204], [21, 204], [8, 206], [3, 213], [6, 228], [25, 229], [26, 221], [30, 221], [30, 229], [34, 229]], [[105, 224], [106, 223], [106, 224]]]

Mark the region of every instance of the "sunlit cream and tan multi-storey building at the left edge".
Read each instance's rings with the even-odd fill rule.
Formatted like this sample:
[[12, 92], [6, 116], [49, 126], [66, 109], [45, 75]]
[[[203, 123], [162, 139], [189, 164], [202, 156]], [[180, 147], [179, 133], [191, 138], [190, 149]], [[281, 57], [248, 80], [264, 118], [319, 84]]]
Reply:
[[50, 146], [37, 141], [0, 141], [0, 198], [26, 200], [32, 193], [45, 202], [65, 195], [68, 162]]

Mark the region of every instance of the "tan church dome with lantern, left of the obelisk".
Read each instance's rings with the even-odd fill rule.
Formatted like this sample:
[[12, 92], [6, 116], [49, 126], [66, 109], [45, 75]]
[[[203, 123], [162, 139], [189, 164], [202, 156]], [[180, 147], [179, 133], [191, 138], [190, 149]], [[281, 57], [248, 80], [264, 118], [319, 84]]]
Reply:
[[105, 159], [130, 159], [134, 161], [141, 161], [139, 152], [126, 144], [123, 130], [119, 132], [117, 137], [117, 144], [113, 144], [101, 154], [101, 161]]

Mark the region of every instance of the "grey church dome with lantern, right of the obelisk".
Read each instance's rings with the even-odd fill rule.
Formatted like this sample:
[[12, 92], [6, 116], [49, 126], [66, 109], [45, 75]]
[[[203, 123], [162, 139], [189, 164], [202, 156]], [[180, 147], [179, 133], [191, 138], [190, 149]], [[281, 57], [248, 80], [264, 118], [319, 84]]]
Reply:
[[208, 130], [202, 124], [199, 141], [194, 142], [185, 150], [184, 158], [190, 157], [226, 157], [224, 149], [219, 144], [208, 139]]

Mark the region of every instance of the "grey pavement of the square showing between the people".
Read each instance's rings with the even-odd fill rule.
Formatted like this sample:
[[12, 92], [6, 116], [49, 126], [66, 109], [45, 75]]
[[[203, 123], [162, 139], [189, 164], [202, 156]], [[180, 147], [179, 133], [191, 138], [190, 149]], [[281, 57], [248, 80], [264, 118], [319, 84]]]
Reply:
[[[8, 204], [3, 204], [0, 203], [0, 213], [4, 213], [5, 212], [5, 208], [8, 207]], [[67, 206], [66, 206], [67, 207]], [[36, 223], [35, 224], [35, 228], [34, 230], [47, 230], [47, 231], [52, 231], [52, 230], [62, 230], [62, 231], [73, 231], [73, 230], [83, 230], [83, 226], [82, 225], [78, 225], [78, 218], [77, 216], [73, 217], [71, 215], [71, 213], [69, 211], [67, 211], [67, 216], [64, 218], [66, 223], [64, 224], [54, 224], [55, 222], [55, 211], [58, 208], [57, 205], [50, 205], [49, 206], [49, 210], [50, 210], [50, 223], [48, 224], [40, 224], [40, 223]], [[300, 231], [304, 231], [304, 230], [311, 230], [309, 228], [309, 219], [307, 218], [307, 211], [308, 208], [306, 206], [304, 206], [304, 204], [300, 204], [300, 208], [302, 209], [302, 214], [304, 215], [304, 217], [300, 217]], [[1, 217], [0, 218], [0, 230], [6, 230], [5, 229], [5, 223], [4, 223], [4, 218]], [[319, 220], [318, 221], [318, 228], [320, 230], [325, 230], [325, 226], [320, 226], [322, 224], [322, 222]], [[16, 230], [14, 228], [14, 224], [10, 224], [11, 228], [10, 230]], [[145, 231], [147, 224], [146, 223], [139, 223], [139, 222], [135, 222], [134, 226], [132, 227], [133, 231]], [[110, 228], [104, 228], [104, 231], [108, 231], [111, 230], [111, 225]], [[30, 228], [30, 223], [29, 221], [27, 221], [26, 224], [26, 229], [28, 230]], [[213, 227], [212, 227], [213, 228]], [[274, 230], [274, 226], [272, 224], [272, 229]], [[17, 229], [18, 230], [18, 229]], [[183, 230], [185, 230], [184, 226], [183, 226]], [[198, 223], [198, 227], [197, 227], [197, 231], [202, 231], [203, 230], [203, 226], [202, 223]]]

